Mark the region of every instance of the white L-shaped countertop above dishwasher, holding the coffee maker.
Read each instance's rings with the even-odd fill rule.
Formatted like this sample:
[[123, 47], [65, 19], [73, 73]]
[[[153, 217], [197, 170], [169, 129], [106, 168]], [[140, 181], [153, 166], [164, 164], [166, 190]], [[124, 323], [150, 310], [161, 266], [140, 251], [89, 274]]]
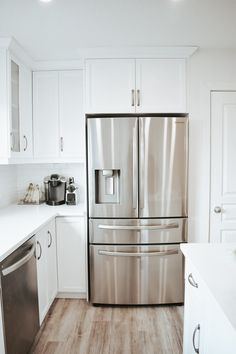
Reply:
[[0, 209], [0, 262], [57, 216], [85, 215], [85, 205], [11, 205]]

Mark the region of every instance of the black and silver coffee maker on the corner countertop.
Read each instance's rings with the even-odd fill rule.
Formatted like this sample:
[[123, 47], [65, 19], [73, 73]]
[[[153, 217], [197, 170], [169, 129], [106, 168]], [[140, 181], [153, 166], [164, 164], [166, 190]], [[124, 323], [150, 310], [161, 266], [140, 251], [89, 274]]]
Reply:
[[44, 178], [45, 200], [48, 205], [61, 205], [66, 202], [66, 178], [52, 174]]

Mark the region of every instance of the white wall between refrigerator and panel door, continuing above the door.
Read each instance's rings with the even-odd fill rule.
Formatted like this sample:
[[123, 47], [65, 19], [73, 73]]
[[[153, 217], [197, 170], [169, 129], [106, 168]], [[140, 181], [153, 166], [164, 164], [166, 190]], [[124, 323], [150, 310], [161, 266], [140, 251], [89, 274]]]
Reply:
[[201, 49], [190, 61], [189, 241], [207, 242], [210, 200], [210, 89], [236, 90], [236, 50]]

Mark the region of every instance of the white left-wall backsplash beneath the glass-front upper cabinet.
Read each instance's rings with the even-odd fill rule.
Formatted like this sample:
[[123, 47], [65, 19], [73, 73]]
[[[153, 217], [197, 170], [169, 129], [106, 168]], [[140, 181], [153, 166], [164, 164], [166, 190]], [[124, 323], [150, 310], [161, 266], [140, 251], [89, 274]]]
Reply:
[[0, 166], [0, 208], [16, 200], [16, 166]]

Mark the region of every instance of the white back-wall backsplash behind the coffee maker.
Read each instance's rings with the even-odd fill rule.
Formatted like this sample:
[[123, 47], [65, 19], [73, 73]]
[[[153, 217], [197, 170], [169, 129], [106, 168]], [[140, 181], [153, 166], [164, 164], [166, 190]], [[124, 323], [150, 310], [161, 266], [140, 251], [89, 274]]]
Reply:
[[17, 166], [16, 189], [18, 199], [26, 192], [29, 183], [39, 184], [42, 188], [43, 179], [52, 173], [58, 173], [65, 177], [74, 177], [79, 185], [79, 203], [85, 200], [85, 180], [83, 164], [30, 164]]

